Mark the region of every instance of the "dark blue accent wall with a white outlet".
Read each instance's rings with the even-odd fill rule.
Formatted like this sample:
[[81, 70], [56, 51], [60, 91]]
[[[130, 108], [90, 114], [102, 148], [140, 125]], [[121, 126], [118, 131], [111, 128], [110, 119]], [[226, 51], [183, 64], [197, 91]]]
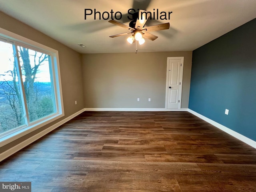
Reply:
[[256, 19], [193, 51], [188, 108], [256, 141]]

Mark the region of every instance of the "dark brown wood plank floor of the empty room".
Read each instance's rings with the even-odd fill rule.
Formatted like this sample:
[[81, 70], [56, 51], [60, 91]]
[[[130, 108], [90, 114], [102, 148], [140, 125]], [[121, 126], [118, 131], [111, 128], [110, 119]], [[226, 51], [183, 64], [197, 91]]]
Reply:
[[0, 163], [32, 192], [256, 192], [256, 149], [189, 112], [84, 112]]

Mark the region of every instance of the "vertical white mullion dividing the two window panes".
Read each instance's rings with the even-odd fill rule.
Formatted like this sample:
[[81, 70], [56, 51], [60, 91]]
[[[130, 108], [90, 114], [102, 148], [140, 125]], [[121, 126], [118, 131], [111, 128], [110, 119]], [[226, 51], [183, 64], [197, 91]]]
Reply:
[[22, 109], [23, 109], [23, 114], [24, 114], [24, 121], [25, 124], [29, 124], [29, 118], [28, 118], [28, 107], [27, 107], [27, 102], [26, 102], [26, 96], [25, 96], [25, 89], [24, 89], [24, 84], [22, 80], [22, 71], [20, 67], [20, 58], [18, 53], [18, 47], [13, 44], [13, 52], [14, 52], [14, 59], [15, 59], [15, 65], [17, 69], [17, 77], [18, 77], [18, 82], [19, 82], [19, 87], [21, 91], [20, 97], [22, 100]]

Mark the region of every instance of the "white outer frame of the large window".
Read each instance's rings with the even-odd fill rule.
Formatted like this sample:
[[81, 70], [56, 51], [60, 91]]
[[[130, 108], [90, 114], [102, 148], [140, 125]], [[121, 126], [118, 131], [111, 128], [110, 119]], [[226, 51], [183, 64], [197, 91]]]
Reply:
[[[28, 126], [25, 124], [24, 126], [20, 126], [14, 128], [12, 130], [8, 130], [4, 132], [0, 136], [0, 147], [25, 136], [47, 124], [58, 120], [59, 118], [64, 116], [64, 104], [63, 104], [63, 97], [62, 97], [62, 86], [61, 86], [61, 78], [60, 78], [60, 64], [59, 64], [59, 56], [58, 50], [0, 28], [0, 39], [1, 41], [10, 42], [11, 44], [15, 44], [15, 46], [24, 46], [26, 48], [30, 48], [32, 50], [40, 51], [42, 53], [50, 55], [51, 60], [51, 69], [52, 72], [51, 78], [53, 82], [53, 89], [54, 89], [54, 98], [55, 98], [55, 105], [56, 105], [56, 112], [52, 115], [40, 118], [34, 122], [30, 122]], [[17, 50], [16, 50], [17, 51]], [[20, 69], [19, 69], [20, 70]], [[21, 71], [20, 71], [21, 72]], [[24, 91], [24, 90], [22, 90]], [[27, 118], [27, 117], [26, 117]], [[26, 121], [25, 121], [26, 123]]]

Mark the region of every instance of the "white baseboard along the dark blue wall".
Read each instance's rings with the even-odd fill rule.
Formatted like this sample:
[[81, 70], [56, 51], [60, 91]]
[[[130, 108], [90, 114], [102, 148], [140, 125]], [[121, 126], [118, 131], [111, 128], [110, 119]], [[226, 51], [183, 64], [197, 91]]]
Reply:
[[207, 117], [205, 117], [205, 116], [203, 116], [203, 115], [201, 115], [201, 114], [199, 114], [199, 113], [197, 113], [197, 112], [195, 112], [191, 109], [188, 109], [188, 112], [190, 112], [190, 113], [194, 114], [195, 116], [198, 116], [202, 120], [205, 120], [206, 122], [216, 126], [220, 130], [232, 135], [233, 137], [241, 140], [242, 142], [245, 142], [246, 144], [256, 148], [256, 142], [254, 140], [252, 140], [252, 139], [250, 139], [246, 136], [243, 136], [242, 134], [240, 134], [238, 132], [235, 132], [235, 131], [231, 130], [230, 128], [227, 128], [227, 127], [223, 126], [222, 124], [219, 124], [219, 123], [217, 123], [217, 122], [215, 122], [215, 121], [213, 121], [213, 120], [211, 120], [211, 119], [209, 119], [209, 118], [207, 118]]

